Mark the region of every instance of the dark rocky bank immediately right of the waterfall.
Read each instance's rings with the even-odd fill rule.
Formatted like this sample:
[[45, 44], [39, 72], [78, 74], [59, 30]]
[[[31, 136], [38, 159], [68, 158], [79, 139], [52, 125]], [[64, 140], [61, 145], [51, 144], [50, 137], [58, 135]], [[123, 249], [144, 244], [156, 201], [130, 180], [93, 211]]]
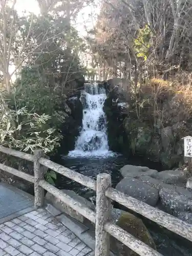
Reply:
[[[188, 130], [192, 131], [191, 124], [179, 122], [175, 116], [173, 119], [170, 118], [172, 116], [170, 109], [167, 109], [170, 111], [170, 120], [161, 123], [160, 119], [153, 116], [152, 106], [147, 106], [146, 102], [144, 109], [138, 109], [139, 113], [137, 113], [136, 98], [129, 81], [126, 83], [121, 80], [114, 78], [108, 81], [108, 98], [104, 104], [111, 150], [126, 156], [129, 154], [144, 156], [168, 168], [178, 166], [183, 162], [182, 137]], [[146, 94], [145, 101], [147, 97]], [[142, 103], [140, 105], [142, 106]], [[166, 112], [165, 106], [163, 108]]]

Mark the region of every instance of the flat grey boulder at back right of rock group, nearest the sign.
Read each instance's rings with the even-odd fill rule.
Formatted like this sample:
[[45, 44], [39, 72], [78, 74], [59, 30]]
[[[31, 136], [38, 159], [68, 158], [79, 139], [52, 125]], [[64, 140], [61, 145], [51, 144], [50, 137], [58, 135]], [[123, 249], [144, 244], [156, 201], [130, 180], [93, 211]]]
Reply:
[[167, 184], [180, 184], [187, 181], [186, 173], [183, 170], [163, 170], [151, 176]]

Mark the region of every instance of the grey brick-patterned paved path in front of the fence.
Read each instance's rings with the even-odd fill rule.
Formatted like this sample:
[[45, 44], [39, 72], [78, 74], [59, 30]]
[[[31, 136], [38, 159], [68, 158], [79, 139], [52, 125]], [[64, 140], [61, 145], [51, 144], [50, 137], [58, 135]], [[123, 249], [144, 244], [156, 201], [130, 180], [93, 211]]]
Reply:
[[94, 253], [45, 209], [0, 225], [0, 256], [85, 255]]

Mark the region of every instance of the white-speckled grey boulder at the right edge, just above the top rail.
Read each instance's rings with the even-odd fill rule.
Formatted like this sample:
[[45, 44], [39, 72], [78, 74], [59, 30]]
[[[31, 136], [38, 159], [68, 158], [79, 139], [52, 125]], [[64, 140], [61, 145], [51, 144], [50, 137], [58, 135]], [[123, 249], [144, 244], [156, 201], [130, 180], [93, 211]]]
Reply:
[[159, 191], [160, 202], [169, 212], [178, 216], [182, 211], [189, 211], [192, 206], [192, 198], [187, 197], [177, 191], [163, 187]]

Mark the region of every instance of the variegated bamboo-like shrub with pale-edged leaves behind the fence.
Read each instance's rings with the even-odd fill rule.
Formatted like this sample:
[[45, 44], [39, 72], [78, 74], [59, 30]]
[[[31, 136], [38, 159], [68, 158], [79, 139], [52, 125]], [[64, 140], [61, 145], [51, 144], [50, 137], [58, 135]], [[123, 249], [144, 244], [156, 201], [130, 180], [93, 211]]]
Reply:
[[[41, 148], [45, 153], [59, 145], [60, 135], [47, 122], [49, 115], [29, 113], [24, 107], [17, 111], [0, 105], [0, 143], [21, 151], [33, 152]], [[46, 127], [47, 126], [47, 127]]]

